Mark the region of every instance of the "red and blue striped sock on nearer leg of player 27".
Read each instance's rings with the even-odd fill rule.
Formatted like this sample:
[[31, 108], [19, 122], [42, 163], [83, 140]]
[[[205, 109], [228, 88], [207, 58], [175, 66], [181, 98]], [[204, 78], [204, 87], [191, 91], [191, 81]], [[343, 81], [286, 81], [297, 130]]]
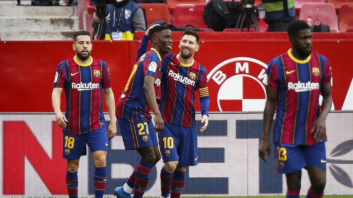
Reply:
[[135, 185], [133, 188], [134, 198], [142, 198], [145, 193], [152, 167], [153, 165], [149, 165], [141, 160], [135, 168]]

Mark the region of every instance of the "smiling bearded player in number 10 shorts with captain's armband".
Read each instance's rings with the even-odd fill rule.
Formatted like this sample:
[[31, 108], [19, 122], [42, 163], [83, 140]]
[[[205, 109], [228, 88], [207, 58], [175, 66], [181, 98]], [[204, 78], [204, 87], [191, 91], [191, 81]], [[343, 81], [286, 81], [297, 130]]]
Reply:
[[[210, 98], [207, 71], [193, 59], [199, 50], [199, 36], [185, 30], [180, 40], [179, 54], [169, 52], [162, 60], [160, 110], [164, 129], [159, 133], [164, 166], [161, 170], [161, 197], [179, 198], [185, 184], [187, 166], [198, 164], [195, 124], [195, 92], [198, 91], [204, 125], [208, 126]], [[146, 51], [148, 36], [144, 35], [139, 53]]]

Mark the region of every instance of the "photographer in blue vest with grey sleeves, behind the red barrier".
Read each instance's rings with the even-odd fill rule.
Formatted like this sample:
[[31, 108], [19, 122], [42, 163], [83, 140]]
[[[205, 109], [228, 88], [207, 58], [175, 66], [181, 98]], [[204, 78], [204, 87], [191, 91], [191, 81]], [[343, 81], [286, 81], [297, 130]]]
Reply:
[[[142, 8], [131, 0], [115, 0], [108, 4], [107, 23], [112, 31], [113, 40], [133, 40], [135, 31], [145, 31], [146, 24]], [[93, 21], [98, 20], [94, 12]], [[105, 39], [110, 40], [107, 27], [104, 27]], [[104, 38], [101, 38], [104, 39]]]

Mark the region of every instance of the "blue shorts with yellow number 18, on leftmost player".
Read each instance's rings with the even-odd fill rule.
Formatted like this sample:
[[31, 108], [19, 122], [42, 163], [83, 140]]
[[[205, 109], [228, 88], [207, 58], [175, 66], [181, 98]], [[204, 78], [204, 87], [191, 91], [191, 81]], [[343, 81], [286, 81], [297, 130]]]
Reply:
[[91, 152], [98, 150], [108, 151], [107, 129], [101, 128], [86, 134], [65, 134], [62, 141], [62, 155], [65, 159], [76, 160], [86, 155], [86, 144]]

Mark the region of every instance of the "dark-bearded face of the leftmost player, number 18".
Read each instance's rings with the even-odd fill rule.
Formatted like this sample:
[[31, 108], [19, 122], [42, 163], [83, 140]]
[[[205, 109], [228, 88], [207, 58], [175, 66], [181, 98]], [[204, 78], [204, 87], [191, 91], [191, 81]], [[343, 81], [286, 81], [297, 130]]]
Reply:
[[80, 60], [87, 60], [92, 51], [91, 37], [88, 35], [77, 36], [76, 43], [72, 45], [72, 48]]

